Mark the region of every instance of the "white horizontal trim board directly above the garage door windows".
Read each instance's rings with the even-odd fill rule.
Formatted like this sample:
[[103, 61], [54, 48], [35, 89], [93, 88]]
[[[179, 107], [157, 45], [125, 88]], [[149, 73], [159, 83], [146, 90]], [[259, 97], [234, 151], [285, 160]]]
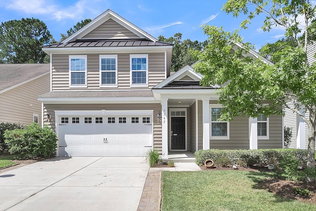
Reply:
[[55, 110], [56, 116], [83, 116], [83, 115], [152, 115], [154, 110]]

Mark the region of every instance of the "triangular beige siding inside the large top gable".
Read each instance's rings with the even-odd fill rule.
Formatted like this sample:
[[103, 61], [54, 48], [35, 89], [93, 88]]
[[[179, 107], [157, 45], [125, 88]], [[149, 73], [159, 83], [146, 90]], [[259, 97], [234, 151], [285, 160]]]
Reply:
[[119, 25], [113, 19], [104, 22], [85, 36], [83, 39], [127, 39], [139, 38], [125, 27]]

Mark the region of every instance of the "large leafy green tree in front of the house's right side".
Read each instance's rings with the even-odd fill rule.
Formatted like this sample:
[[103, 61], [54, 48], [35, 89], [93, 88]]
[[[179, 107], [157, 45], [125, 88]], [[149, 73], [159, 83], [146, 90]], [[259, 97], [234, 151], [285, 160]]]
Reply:
[[[218, 92], [219, 103], [225, 108], [222, 119], [230, 120], [240, 114], [253, 118], [259, 113], [283, 114], [284, 107], [297, 113], [309, 130], [307, 167], [315, 168], [316, 63], [309, 64], [306, 53], [311, 37], [308, 26], [315, 19], [315, 6], [309, 0], [228, 0], [223, 9], [235, 17], [244, 14], [247, 18], [241, 23], [243, 28], [255, 16], [265, 14], [263, 30], [284, 27], [286, 40], [291, 42], [271, 52], [273, 64], [250, 56], [249, 43], [236, 48], [236, 43], [242, 43], [237, 31], [205, 26], [209, 44], [198, 54], [200, 62], [195, 66], [204, 75], [201, 83], [226, 84]], [[302, 32], [304, 38], [300, 40]], [[309, 112], [309, 117], [305, 112]], [[310, 175], [306, 180], [315, 181]]]

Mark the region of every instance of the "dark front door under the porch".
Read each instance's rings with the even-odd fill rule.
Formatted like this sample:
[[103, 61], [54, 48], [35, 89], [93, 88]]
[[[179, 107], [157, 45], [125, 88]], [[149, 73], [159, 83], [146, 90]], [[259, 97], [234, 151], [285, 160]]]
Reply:
[[171, 150], [186, 149], [186, 118], [171, 117]]

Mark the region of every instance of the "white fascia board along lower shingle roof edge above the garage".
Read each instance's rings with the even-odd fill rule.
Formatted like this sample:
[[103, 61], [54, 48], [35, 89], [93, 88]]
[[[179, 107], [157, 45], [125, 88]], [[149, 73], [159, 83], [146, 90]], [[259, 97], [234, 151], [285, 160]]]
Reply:
[[76, 98], [56, 98], [39, 97], [39, 101], [44, 104], [113, 104], [113, 103], [159, 103], [154, 97], [76, 97]]

